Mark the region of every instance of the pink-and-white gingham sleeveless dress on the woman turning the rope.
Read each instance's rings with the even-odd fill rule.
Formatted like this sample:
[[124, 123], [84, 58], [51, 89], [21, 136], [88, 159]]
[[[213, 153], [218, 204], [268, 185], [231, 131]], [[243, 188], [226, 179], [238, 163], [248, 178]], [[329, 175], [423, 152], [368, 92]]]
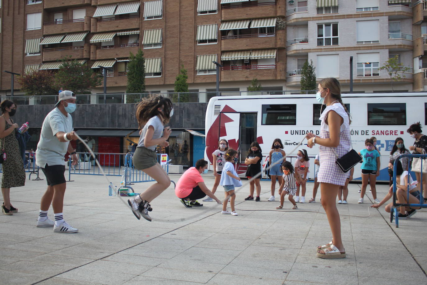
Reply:
[[[325, 123], [325, 119], [330, 110], [335, 111], [340, 115], [344, 122], [340, 126], [339, 132], [339, 145], [334, 147], [338, 157], [342, 157], [351, 150], [351, 141], [350, 141], [350, 126], [348, 120], [348, 114], [345, 112], [344, 107], [341, 103], [334, 103], [325, 108], [325, 111], [322, 112], [320, 116], [320, 137], [321, 138], [330, 138], [329, 136], [329, 126]], [[319, 173], [317, 174], [317, 182], [330, 183], [335, 185], [345, 185], [345, 179], [347, 179], [348, 173], [343, 173], [341, 169], [336, 165], [336, 156], [330, 147], [324, 147], [319, 145]]]

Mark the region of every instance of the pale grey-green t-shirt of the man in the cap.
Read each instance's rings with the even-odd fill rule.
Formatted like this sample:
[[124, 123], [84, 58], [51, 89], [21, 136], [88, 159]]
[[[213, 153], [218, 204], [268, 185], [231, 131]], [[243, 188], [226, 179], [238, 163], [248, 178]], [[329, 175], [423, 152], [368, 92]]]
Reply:
[[73, 131], [73, 118], [67, 117], [58, 108], [53, 109], [44, 118], [41, 126], [40, 141], [35, 151], [35, 163], [39, 167], [45, 165], [65, 165], [64, 156], [70, 142], [61, 142], [56, 137], [58, 132]]

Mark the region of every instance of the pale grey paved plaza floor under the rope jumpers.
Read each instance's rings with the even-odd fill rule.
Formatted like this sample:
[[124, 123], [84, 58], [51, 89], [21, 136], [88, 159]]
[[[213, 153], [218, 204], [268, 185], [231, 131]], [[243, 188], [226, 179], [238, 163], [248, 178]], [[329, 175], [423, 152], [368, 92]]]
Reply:
[[[177, 181], [179, 175], [170, 177]], [[347, 258], [327, 260], [316, 257], [316, 247], [331, 239], [319, 195], [317, 203], [298, 203], [298, 210], [316, 213], [292, 211], [287, 200], [284, 210], [265, 211], [279, 202], [267, 201], [270, 182], [262, 181], [261, 201], [244, 201], [249, 188], [240, 189], [239, 215], [231, 216], [215, 202], [187, 209], [170, 187], [151, 203], [148, 222], [137, 220], [118, 197], [108, 197], [103, 176], [71, 178], [64, 218], [79, 229], [73, 234], [35, 226], [46, 180], [12, 188], [19, 212], [0, 216], [1, 284], [427, 283], [427, 211], [400, 220], [399, 228], [389, 223], [384, 207], [371, 208], [370, 217], [345, 216], [369, 214], [372, 196], [368, 192], [365, 203], [357, 204], [358, 184], [349, 185], [348, 204], [337, 205]], [[211, 187], [212, 173], [204, 178]], [[139, 193], [150, 183], [133, 186]], [[307, 201], [312, 188], [308, 183]], [[377, 191], [381, 200], [388, 187], [378, 185]], [[223, 197], [222, 188], [217, 194]]]

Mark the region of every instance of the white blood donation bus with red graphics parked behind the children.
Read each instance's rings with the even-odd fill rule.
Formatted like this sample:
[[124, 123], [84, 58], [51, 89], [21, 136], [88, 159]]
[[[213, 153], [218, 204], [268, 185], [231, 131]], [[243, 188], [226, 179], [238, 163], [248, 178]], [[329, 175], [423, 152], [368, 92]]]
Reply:
[[[210, 169], [213, 169], [212, 153], [222, 138], [228, 141], [230, 147], [240, 151], [240, 175], [246, 171], [243, 162], [252, 141], [260, 144], [264, 167], [275, 138], [281, 139], [287, 155], [295, 156], [295, 152], [289, 152], [307, 132], [319, 135], [321, 105], [315, 97], [315, 94], [212, 97], [205, 120], [205, 159], [211, 162]], [[350, 132], [354, 150], [359, 152], [365, 147], [366, 138], [376, 137], [381, 154], [381, 170], [377, 180], [389, 181], [387, 167], [395, 139], [403, 138], [408, 148], [414, 143], [407, 133], [408, 127], [418, 121], [422, 126], [427, 124], [427, 93], [351, 93], [342, 94], [342, 101], [351, 115]], [[307, 144], [307, 141], [303, 144]], [[317, 146], [309, 149], [307, 145], [302, 145], [300, 148], [306, 149], [310, 157], [316, 156], [319, 151]], [[287, 160], [295, 162], [292, 158]], [[308, 176], [313, 179], [314, 159], [310, 161]], [[354, 179], [360, 179], [360, 164], [355, 166]]]

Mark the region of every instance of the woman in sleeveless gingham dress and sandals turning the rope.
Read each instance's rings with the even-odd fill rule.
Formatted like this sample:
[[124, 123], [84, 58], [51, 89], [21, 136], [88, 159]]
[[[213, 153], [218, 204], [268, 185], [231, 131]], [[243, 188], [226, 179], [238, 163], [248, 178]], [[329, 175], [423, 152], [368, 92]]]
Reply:
[[317, 256], [326, 259], [344, 258], [345, 249], [341, 239], [341, 221], [336, 209], [336, 195], [340, 185], [345, 185], [347, 173], [335, 164], [336, 157], [342, 157], [351, 150], [350, 120], [341, 100], [341, 88], [335, 78], [319, 82], [316, 99], [326, 108], [320, 116], [320, 136], [307, 134], [307, 146], [319, 144], [320, 167], [317, 181], [320, 182], [322, 206], [328, 217], [332, 241], [317, 247]]

